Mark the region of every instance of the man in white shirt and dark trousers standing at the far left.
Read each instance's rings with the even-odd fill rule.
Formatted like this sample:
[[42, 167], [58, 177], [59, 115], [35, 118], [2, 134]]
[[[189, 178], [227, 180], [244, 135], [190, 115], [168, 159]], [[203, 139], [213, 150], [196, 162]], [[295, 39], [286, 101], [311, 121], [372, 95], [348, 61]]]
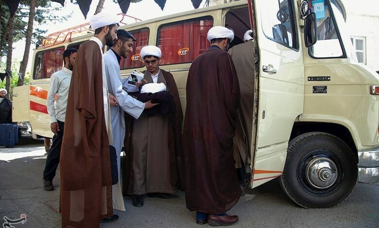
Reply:
[[[52, 74], [50, 78], [49, 93], [47, 97], [47, 108], [50, 115], [50, 128], [54, 133], [52, 147], [49, 149], [46, 159], [45, 170], [43, 171], [43, 188], [46, 191], [53, 191], [52, 179], [59, 164], [61, 154], [63, 130], [65, 126], [67, 98], [71, 81], [72, 69], [74, 68], [77, 49], [68, 48], [63, 52], [65, 67]], [[54, 108], [54, 98], [56, 99], [56, 109]]]

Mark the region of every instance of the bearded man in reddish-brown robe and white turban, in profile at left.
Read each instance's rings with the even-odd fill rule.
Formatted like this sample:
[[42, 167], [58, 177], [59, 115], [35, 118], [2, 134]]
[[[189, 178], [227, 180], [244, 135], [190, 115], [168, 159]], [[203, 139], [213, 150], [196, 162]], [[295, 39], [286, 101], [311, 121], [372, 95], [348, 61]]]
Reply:
[[95, 35], [76, 55], [60, 157], [63, 228], [95, 228], [101, 220], [118, 219], [112, 210], [109, 155], [109, 104], [115, 103], [108, 100], [102, 49], [117, 39], [119, 22], [117, 16], [93, 16]]

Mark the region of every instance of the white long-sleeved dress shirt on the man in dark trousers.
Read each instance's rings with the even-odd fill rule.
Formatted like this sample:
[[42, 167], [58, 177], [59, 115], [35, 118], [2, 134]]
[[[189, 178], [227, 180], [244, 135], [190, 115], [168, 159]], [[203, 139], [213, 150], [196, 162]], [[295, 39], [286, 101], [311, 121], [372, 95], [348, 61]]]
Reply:
[[[53, 73], [52, 77], [50, 78], [49, 92], [46, 104], [51, 123], [57, 122], [57, 120], [65, 122], [71, 75], [72, 71], [66, 67], [63, 67], [62, 70]], [[58, 95], [55, 104], [56, 111], [54, 108], [55, 94]]]

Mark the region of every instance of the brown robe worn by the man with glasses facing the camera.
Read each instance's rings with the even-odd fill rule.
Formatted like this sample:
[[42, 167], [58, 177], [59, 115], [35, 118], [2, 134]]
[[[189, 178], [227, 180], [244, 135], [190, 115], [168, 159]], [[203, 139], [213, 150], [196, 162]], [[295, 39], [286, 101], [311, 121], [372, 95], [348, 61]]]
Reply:
[[[153, 79], [146, 70], [144, 79]], [[124, 195], [146, 193], [175, 193], [184, 190], [183, 152], [181, 130], [183, 113], [179, 93], [171, 73], [160, 69], [157, 83], [163, 82], [167, 92], [173, 96], [173, 107], [169, 114], [148, 115], [145, 112], [126, 133], [123, 167]], [[131, 118], [127, 117], [130, 122]]]

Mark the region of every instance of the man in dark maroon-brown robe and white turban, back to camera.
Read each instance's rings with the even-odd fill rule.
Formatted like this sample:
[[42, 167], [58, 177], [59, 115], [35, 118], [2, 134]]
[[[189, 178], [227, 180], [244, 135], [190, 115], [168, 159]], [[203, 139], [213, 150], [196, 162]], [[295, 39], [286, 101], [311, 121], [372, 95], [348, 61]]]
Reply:
[[198, 224], [230, 225], [241, 189], [233, 160], [233, 137], [240, 88], [226, 52], [234, 33], [221, 26], [208, 31], [211, 47], [197, 57], [187, 79], [183, 130], [186, 205]]

